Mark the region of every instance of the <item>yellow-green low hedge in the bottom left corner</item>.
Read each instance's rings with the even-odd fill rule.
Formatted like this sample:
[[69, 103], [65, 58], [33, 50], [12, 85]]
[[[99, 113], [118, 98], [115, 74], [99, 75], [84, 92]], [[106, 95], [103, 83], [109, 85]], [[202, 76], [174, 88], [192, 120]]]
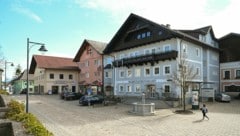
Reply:
[[11, 100], [8, 103], [8, 107], [10, 110], [5, 114], [6, 117], [22, 122], [24, 128], [27, 130], [27, 133], [34, 136], [53, 136], [53, 134], [49, 132], [33, 114], [26, 113], [24, 111], [23, 104], [15, 100]]

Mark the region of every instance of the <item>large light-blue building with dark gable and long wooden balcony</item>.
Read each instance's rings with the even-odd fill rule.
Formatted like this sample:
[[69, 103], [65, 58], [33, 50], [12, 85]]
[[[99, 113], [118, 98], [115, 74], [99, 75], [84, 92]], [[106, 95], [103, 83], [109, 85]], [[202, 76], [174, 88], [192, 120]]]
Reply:
[[[191, 90], [219, 89], [219, 49], [211, 26], [173, 30], [131, 14], [104, 50], [112, 56], [114, 95], [148, 98], [181, 97], [172, 77], [179, 76], [180, 62], [196, 73], [186, 79]], [[211, 84], [210, 84], [211, 82]]]

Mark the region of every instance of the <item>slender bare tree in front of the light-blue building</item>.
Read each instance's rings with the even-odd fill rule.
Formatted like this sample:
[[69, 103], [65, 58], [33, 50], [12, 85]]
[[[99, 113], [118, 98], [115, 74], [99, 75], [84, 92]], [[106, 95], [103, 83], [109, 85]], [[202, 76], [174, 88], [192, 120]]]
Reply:
[[186, 55], [183, 55], [179, 62], [179, 69], [172, 74], [172, 81], [181, 89], [181, 104], [183, 103], [183, 110], [186, 110], [186, 92], [192, 81], [196, 78], [200, 71], [195, 69], [193, 65], [188, 64]]

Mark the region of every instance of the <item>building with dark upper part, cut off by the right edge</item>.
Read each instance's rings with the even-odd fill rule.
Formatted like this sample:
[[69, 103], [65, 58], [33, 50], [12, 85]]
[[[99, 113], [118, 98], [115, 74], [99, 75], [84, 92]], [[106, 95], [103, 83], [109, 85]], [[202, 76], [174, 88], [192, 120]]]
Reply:
[[240, 34], [229, 33], [219, 39], [221, 92], [240, 93]]

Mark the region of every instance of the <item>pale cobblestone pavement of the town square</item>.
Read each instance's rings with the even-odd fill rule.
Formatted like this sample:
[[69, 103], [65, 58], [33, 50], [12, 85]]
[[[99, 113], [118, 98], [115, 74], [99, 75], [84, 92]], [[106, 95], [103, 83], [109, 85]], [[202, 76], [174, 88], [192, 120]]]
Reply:
[[[24, 102], [25, 96], [11, 96]], [[55, 136], [240, 136], [240, 100], [206, 103], [210, 120], [176, 109], [156, 110], [155, 116], [134, 116], [130, 105], [88, 107], [54, 95], [31, 95], [29, 110]]]

